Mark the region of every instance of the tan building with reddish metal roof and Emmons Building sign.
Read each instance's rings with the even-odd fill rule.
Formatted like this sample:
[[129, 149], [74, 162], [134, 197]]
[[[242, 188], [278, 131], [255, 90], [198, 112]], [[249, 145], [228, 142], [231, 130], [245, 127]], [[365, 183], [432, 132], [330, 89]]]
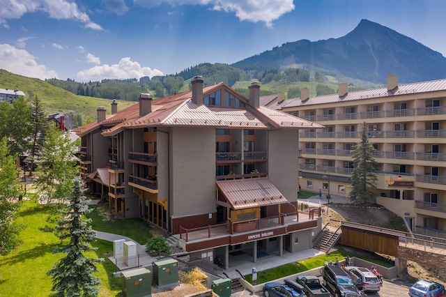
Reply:
[[82, 177], [123, 218], [143, 218], [192, 256], [231, 257], [312, 248], [321, 210], [298, 213], [298, 132], [322, 128], [260, 105], [224, 83], [139, 103], [75, 129]]

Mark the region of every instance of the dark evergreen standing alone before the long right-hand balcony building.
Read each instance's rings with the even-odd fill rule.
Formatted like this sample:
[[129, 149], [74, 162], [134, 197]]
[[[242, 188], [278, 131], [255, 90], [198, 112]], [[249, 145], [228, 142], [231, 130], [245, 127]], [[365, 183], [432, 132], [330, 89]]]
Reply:
[[357, 204], [373, 204], [376, 193], [369, 188], [376, 188], [376, 168], [378, 163], [373, 157], [375, 148], [367, 136], [367, 124], [362, 125], [361, 140], [352, 151], [353, 172], [351, 173], [351, 192], [348, 197]]

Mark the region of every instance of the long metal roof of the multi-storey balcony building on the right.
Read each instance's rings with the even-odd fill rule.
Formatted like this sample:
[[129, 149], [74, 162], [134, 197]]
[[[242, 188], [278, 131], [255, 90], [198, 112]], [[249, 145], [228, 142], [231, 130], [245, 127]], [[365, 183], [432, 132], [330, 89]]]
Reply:
[[368, 89], [362, 91], [348, 92], [345, 96], [339, 97], [336, 94], [310, 97], [305, 102], [302, 102], [300, 98], [287, 99], [280, 105], [281, 108], [286, 107], [298, 107], [303, 105], [316, 105], [331, 102], [346, 102], [353, 100], [362, 100], [370, 98], [380, 98], [380, 97], [393, 97], [401, 96], [413, 93], [426, 93], [432, 91], [446, 91], [446, 79], [438, 79], [430, 82], [416, 82], [413, 84], [400, 84], [397, 88], [388, 91], [387, 87], [378, 89]]

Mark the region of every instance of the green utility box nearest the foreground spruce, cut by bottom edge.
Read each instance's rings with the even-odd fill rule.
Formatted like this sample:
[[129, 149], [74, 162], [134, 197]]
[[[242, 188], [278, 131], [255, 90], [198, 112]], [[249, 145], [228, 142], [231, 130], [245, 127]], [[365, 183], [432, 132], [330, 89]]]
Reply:
[[123, 296], [127, 297], [151, 297], [152, 276], [146, 268], [122, 271]]

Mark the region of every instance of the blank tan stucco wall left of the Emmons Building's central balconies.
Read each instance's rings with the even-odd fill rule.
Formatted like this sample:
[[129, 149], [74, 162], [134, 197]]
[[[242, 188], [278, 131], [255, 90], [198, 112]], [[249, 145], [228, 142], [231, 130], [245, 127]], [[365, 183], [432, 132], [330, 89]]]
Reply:
[[173, 128], [170, 139], [171, 215], [215, 213], [215, 128]]

